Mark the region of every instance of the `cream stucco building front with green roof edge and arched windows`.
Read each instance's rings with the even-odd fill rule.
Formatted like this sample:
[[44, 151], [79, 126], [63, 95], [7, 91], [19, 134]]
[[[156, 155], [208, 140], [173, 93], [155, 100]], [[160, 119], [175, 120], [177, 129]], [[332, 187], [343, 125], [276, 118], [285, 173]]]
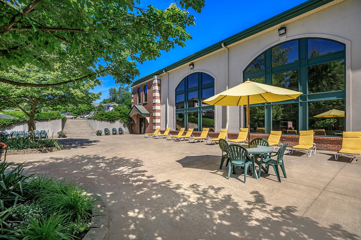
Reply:
[[[143, 104], [137, 94], [144, 86], [162, 85], [158, 107], [147, 108], [157, 118], [145, 123], [145, 131], [210, 127], [238, 133], [245, 127], [243, 106], [201, 100], [247, 78], [303, 92], [296, 100], [252, 105], [254, 136], [277, 130], [285, 140], [297, 139], [299, 131], [312, 129], [327, 149], [328, 142], [341, 142], [343, 131], [361, 131], [360, 10], [358, 0], [309, 0], [135, 80], [133, 104]], [[314, 117], [331, 109], [344, 111], [344, 117]]]

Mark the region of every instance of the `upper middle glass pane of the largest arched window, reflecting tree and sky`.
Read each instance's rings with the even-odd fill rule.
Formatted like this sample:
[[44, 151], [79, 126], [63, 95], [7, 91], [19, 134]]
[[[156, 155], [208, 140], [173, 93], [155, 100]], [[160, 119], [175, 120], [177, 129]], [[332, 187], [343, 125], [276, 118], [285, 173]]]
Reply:
[[298, 61], [298, 40], [284, 42], [271, 49], [272, 67]]

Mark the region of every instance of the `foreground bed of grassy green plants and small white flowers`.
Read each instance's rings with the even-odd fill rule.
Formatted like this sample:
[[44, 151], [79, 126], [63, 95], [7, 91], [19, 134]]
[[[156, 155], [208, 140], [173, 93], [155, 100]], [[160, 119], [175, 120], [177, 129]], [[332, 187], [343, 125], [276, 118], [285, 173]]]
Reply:
[[92, 225], [96, 202], [65, 179], [27, 176], [23, 164], [0, 163], [0, 239], [72, 240]]

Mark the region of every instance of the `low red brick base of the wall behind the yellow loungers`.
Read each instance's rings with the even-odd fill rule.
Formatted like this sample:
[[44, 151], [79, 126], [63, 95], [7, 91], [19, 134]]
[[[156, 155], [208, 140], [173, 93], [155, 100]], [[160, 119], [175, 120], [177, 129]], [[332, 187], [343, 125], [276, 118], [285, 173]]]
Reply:
[[[162, 132], [163, 133], [163, 132]], [[172, 135], [176, 135], [178, 131], [171, 131]], [[201, 132], [193, 132], [193, 135], [199, 137]], [[218, 137], [218, 132], [209, 132], [208, 136], [211, 138]], [[236, 139], [238, 133], [228, 133], [229, 139]], [[257, 137], [262, 137], [268, 139], [269, 134], [255, 134], [251, 133], [250, 138], [255, 139]], [[280, 141], [282, 144], [288, 143], [288, 146], [294, 146], [298, 144], [299, 136], [298, 135], [281, 135]], [[318, 150], [328, 150], [328, 151], [338, 151], [342, 147], [342, 137], [321, 137], [315, 136], [313, 142], [316, 144]]]

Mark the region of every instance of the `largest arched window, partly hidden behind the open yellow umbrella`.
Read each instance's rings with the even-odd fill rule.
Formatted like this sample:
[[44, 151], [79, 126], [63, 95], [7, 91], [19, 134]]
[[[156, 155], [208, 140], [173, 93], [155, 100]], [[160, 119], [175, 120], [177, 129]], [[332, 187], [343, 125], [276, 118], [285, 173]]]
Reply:
[[255, 104], [251, 131], [342, 136], [344, 117], [314, 117], [332, 109], [345, 111], [345, 45], [329, 39], [283, 42], [257, 56], [243, 71], [244, 81], [266, 83], [303, 94], [296, 100]]

